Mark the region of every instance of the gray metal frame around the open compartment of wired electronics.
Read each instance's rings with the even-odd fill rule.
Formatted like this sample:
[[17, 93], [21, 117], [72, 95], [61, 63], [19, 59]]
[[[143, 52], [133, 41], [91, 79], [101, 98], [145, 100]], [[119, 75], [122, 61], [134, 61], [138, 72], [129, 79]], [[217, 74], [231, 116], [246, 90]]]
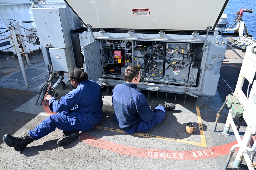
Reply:
[[[128, 40], [128, 41], [163, 41], [171, 43], [196, 43], [201, 46], [205, 43], [205, 49], [202, 51], [202, 55], [198, 56], [201, 58], [200, 68], [193, 68], [193, 70], [199, 71], [199, 79], [196, 82], [197, 85], [194, 87], [189, 86], [177, 86], [175, 84], [159, 84], [152, 82], [140, 82], [138, 85], [139, 89], [152, 90], [152, 91], [164, 91], [169, 93], [179, 94], [194, 94], [196, 96], [207, 96], [213, 97], [216, 94], [216, 89], [219, 81], [219, 71], [221, 62], [224, 59], [228, 39], [220, 35], [207, 36], [206, 35], [158, 35], [158, 34], [129, 34], [129, 33], [100, 33], [93, 32], [95, 39], [100, 40]], [[89, 32], [83, 32], [80, 34], [80, 44], [85, 46], [86, 44], [93, 41], [93, 37]], [[143, 37], [143, 38], [142, 38]], [[144, 38], [146, 37], [146, 38]], [[83, 47], [84, 48], [84, 47]], [[85, 56], [87, 57], [87, 56]], [[134, 57], [134, 56], [133, 56]], [[134, 65], [134, 64], [133, 64]], [[135, 64], [136, 65], [136, 64]], [[106, 77], [106, 78], [104, 78]], [[109, 79], [110, 75], [104, 75], [102, 72], [102, 78], [97, 82], [99, 84], [106, 83], [108, 86], [115, 86], [123, 83], [123, 76], [112, 76], [113, 79]], [[116, 79], [122, 80], [116, 80]], [[195, 77], [196, 78], [196, 77]], [[158, 88], [156, 88], [158, 87]], [[188, 92], [188, 93], [186, 93]]]

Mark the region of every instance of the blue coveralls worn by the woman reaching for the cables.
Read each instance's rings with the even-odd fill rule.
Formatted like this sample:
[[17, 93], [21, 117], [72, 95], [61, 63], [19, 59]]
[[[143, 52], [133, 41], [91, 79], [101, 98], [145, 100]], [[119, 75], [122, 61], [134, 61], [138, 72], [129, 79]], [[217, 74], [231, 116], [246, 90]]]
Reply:
[[55, 128], [70, 131], [87, 131], [102, 120], [102, 95], [100, 85], [94, 81], [86, 80], [78, 84], [60, 100], [51, 97], [50, 110], [58, 112], [47, 117], [29, 136], [35, 140], [40, 139]]

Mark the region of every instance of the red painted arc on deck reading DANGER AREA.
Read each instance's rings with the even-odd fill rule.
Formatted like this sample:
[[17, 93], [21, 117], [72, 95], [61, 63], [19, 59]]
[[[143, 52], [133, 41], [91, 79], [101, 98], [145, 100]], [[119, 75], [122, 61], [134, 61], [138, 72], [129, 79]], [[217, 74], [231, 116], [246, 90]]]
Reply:
[[[212, 157], [218, 157], [227, 155], [231, 146], [237, 144], [237, 141], [227, 143], [225, 145], [214, 146], [202, 150], [190, 150], [190, 151], [171, 151], [171, 150], [159, 150], [159, 149], [141, 149], [131, 146], [125, 146], [110, 142], [107, 140], [95, 138], [93, 136], [82, 133], [79, 140], [87, 143], [88, 145], [99, 147], [112, 152], [120, 153], [123, 155], [143, 157], [143, 158], [155, 158], [155, 159], [173, 159], [173, 160], [198, 160]], [[254, 136], [255, 140], [255, 136]], [[237, 149], [238, 150], [238, 149]], [[236, 151], [237, 151], [236, 150]]]

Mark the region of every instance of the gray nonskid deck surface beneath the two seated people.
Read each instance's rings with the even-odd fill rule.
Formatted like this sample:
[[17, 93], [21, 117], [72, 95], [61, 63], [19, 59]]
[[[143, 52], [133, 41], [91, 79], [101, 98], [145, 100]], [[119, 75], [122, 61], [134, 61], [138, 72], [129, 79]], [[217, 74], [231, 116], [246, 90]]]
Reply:
[[[230, 62], [228, 57], [226, 56], [224, 64]], [[226, 68], [232, 68], [239, 73], [240, 60], [242, 59], [237, 59], [238, 64], [235, 63], [238, 67], [227, 65], [221, 68], [221, 72], [225, 73]], [[229, 75], [225, 75], [222, 77], [227, 80]], [[1, 140], [1, 153], [6, 153], [1, 154], [1, 163], [7, 169], [222, 169], [230, 147], [237, 143], [232, 129], [230, 136], [221, 134], [227, 118], [227, 108], [221, 113], [216, 132], [212, 132], [216, 114], [223, 104], [222, 96], [229, 93], [222, 83], [219, 82], [216, 96], [212, 99], [213, 108], [195, 107], [194, 98], [190, 96], [186, 96], [184, 104], [184, 95], [177, 95], [176, 108], [167, 112], [163, 123], [150, 131], [133, 135], [125, 134], [113, 122], [112, 99], [107, 95], [106, 88], [103, 88], [103, 119], [92, 130], [81, 132], [80, 138], [69, 146], [59, 147], [57, 140], [62, 137], [62, 132], [56, 129], [48, 136], [32, 142], [21, 152], [9, 148]], [[39, 86], [35, 89], [37, 88]], [[64, 90], [58, 90], [57, 99], [69, 90], [72, 89], [68, 84]], [[35, 105], [38, 94], [36, 90], [28, 91], [26, 88], [18, 89], [0, 84], [0, 91], [4, 96], [4, 100], [1, 99], [2, 136], [7, 133], [22, 136], [52, 114], [48, 103], [44, 106], [43, 101], [42, 105]], [[151, 91], [150, 96], [145, 93], [148, 103], [153, 101], [152, 107], [158, 103], [164, 104], [165, 101], [174, 103], [174, 94], [168, 93], [167, 100], [166, 93], [158, 95], [156, 101], [155, 92]], [[238, 119], [235, 122], [238, 124]], [[187, 123], [193, 123], [197, 130], [187, 134]], [[245, 129], [246, 123], [242, 122], [239, 130], [241, 135]], [[231, 162], [234, 158], [235, 154]]]

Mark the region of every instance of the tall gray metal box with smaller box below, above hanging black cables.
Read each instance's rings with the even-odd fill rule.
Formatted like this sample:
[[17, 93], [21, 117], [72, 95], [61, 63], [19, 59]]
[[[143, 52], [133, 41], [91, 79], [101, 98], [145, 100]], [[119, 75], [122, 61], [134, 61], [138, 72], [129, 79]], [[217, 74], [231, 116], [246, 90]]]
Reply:
[[81, 28], [81, 21], [64, 2], [34, 2], [32, 6], [45, 64], [68, 72], [76, 66], [70, 31]]

